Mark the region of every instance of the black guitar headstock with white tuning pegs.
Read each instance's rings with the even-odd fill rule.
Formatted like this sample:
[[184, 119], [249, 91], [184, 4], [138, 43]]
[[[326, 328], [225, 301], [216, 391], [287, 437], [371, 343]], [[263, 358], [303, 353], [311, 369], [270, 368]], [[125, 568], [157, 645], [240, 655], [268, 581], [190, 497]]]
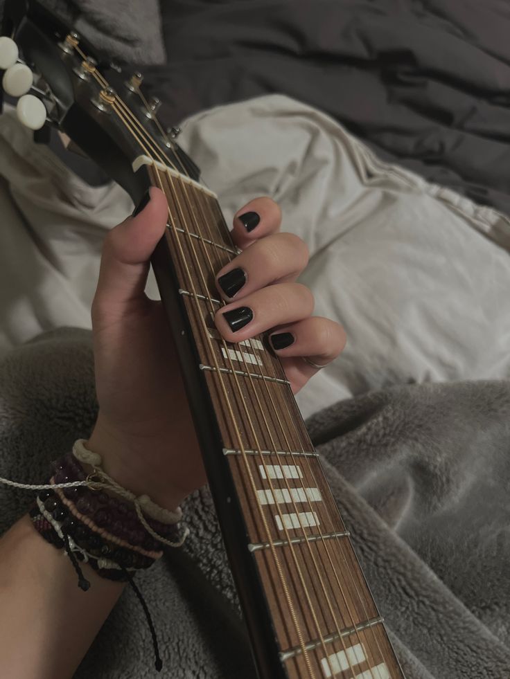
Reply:
[[[17, 100], [21, 123], [57, 127], [137, 201], [148, 179], [139, 156], [198, 179], [199, 170], [164, 131], [159, 99], [146, 99], [143, 75], [124, 72], [37, 0], [8, 0], [0, 37], [2, 89]], [[39, 133], [40, 134], [40, 133]]]

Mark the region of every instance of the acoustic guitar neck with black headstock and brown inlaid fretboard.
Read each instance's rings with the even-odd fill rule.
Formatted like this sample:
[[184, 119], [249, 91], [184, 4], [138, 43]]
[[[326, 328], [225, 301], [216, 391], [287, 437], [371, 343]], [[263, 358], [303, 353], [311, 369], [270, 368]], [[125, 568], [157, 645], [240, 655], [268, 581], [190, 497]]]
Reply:
[[141, 75], [112, 68], [35, 0], [7, 3], [0, 69], [21, 123], [57, 127], [134, 203], [150, 186], [166, 195], [151, 263], [258, 676], [403, 678], [279, 360], [264, 336], [234, 344], [216, 331], [214, 273], [238, 251]]

